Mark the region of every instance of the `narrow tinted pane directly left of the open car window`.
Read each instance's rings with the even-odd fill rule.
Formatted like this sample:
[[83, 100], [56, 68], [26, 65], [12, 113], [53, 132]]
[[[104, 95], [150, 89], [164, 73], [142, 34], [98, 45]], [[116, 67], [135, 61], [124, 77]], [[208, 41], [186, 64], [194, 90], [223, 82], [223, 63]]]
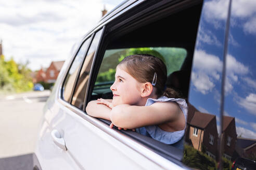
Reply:
[[71, 104], [80, 109], [83, 109], [83, 106], [84, 106], [84, 98], [86, 95], [85, 93], [88, 85], [89, 72], [92, 67], [94, 54], [98, 47], [101, 34], [102, 34], [102, 30], [98, 31], [95, 37], [93, 38], [93, 41], [91, 46], [89, 47], [87, 56], [85, 57], [85, 60], [79, 75], [77, 86], [75, 87], [75, 90], [74, 90], [74, 95], [73, 95]]

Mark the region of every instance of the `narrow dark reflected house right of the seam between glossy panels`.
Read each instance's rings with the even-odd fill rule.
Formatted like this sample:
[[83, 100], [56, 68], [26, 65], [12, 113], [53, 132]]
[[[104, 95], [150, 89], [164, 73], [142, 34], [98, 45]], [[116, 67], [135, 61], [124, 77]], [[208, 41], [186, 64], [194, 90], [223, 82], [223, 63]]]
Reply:
[[237, 141], [235, 118], [229, 116], [223, 116], [223, 156], [229, 161], [232, 160]]

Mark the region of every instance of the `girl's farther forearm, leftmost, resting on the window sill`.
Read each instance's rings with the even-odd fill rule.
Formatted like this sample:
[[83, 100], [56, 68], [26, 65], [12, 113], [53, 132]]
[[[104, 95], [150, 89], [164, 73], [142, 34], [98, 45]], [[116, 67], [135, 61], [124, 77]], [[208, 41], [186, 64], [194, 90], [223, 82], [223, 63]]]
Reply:
[[[107, 101], [112, 103], [112, 100], [107, 100]], [[86, 113], [92, 117], [110, 120], [111, 109], [104, 104], [98, 104], [98, 103], [99, 103], [98, 101], [89, 102], [85, 109]]]

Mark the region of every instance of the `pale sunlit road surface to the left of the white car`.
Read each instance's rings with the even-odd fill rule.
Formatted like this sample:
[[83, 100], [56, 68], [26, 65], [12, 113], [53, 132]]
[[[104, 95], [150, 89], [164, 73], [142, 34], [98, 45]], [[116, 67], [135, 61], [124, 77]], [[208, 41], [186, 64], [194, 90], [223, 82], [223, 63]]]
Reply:
[[45, 90], [0, 96], [0, 169], [31, 158], [49, 94]]

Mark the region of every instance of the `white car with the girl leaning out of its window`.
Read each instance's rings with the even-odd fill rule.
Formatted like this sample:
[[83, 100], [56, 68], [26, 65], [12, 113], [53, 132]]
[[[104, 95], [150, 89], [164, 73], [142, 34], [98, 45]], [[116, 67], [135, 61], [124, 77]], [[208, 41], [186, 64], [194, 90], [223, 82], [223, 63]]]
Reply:
[[[78, 43], [44, 107], [39, 169], [231, 169], [255, 161], [256, 1], [124, 1]], [[184, 149], [88, 116], [115, 68], [149, 53], [188, 103]], [[138, 113], [139, 114], [139, 113]], [[37, 161], [38, 160], [38, 161]]]

